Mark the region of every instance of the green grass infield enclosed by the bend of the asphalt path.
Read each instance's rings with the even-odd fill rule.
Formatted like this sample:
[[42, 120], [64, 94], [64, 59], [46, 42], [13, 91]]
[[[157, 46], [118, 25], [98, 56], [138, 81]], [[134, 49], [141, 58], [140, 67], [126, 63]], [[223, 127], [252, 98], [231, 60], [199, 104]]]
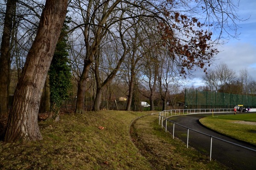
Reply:
[[235, 122], [256, 122], [256, 113], [209, 116], [199, 120], [203, 125], [227, 136], [256, 145], [256, 125]]

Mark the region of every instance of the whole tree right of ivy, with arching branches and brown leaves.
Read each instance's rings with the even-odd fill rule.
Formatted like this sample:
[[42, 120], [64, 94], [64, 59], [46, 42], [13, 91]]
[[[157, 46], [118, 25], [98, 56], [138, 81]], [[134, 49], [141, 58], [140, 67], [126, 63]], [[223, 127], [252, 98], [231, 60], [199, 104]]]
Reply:
[[[79, 11], [83, 20], [81, 31], [84, 34], [86, 48], [83, 71], [78, 83], [76, 113], [84, 113], [84, 94], [90, 67], [95, 62], [99, 47], [102, 46], [105, 31], [112, 31], [112, 28], [107, 29], [109, 28], [107, 20], [116, 22], [116, 18], [119, 16], [111, 18], [110, 14], [116, 14], [116, 11], [125, 11], [124, 20], [126, 21], [135, 17], [139, 19], [154, 18], [164, 41], [161, 45], [168, 46], [170, 53], [174, 54], [170, 57], [173, 57], [177, 68], [179, 67], [180, 74], [185, 76], [188, 71], [196, 67], [206, 71], [213, 56], [218, 53], [214, 46], [218, 41], [212, 41], [212, 32], [209, 30], [215, 28], [221, 30], [219, 36], [221, 38], [222, 32], [227, 27], [236, 28], [236, 24], [228, 23], [229, 19], [233, 23], [237, 17], [233, 13], [232, 2], [226, 1], [218, 1], [221, 4], [218, 5], [215, 1], [208, 0], [196, 0], [195, 2], [182, 0], [180, 3], [183, 6], [180, 6], [180, 3], [175, 0], [152, 0], [150, 2], [136, 0], [134, 2], [122, 1], [122, 3], [120, 0], [89, 0], [86, 3], [78, 0], [76, 2], [74, 6], [77, 6], [76, 8], [80, 11], [77, 9], [74, 11]], [[202, 9], [203, 12], [201, 12]], [[132, 15], [128, 14], [128, 11]], [[200, 13], [202, 14], [200, 17], [195, 15]], [[204, 18], [204, 23], [200, 22], [201, 18]]]

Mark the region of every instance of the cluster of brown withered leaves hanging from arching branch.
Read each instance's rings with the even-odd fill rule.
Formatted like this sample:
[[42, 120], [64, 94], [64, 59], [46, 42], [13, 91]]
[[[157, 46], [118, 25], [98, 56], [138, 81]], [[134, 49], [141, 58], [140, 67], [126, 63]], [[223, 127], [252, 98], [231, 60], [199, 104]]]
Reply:
[[195, 67], [209, 66], [219, 51], [211, 42], [212, 32], [203, 30], [204, 24], [195, 17], [175, 12], [169, 16], [172, 25], [162, 22], [158, 29], [162, 35], [162, 45], [167, 46], [170, 56], [180, 68], [180, 75], [186, 77], [187, 71]]

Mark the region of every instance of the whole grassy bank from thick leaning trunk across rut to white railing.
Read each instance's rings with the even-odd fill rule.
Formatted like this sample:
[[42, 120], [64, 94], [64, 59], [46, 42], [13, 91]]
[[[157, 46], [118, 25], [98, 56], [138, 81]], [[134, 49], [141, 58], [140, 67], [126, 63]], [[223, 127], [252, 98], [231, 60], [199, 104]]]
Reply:
[[[146, 114], [149, 113], [99, 111], [64, 114], [59, 122], [40, 122], [43, 140], [0, 142], [0, 169], [149, 170], [220, 166], [195, 150], [186, 149], [177, 140], [171, 143], [169, 134], [157, 125], [157, 117], [145, 116], [134, 124], [134, 141], [147, 146], [138, 149], [131, 141], [129, 127], [134, 119]], [[160, 147], [168, 149], [159, 152]], [[144, 154], [149, 151], [150, 156]], [[158, 166], [160, 161], [166, 165]]]

